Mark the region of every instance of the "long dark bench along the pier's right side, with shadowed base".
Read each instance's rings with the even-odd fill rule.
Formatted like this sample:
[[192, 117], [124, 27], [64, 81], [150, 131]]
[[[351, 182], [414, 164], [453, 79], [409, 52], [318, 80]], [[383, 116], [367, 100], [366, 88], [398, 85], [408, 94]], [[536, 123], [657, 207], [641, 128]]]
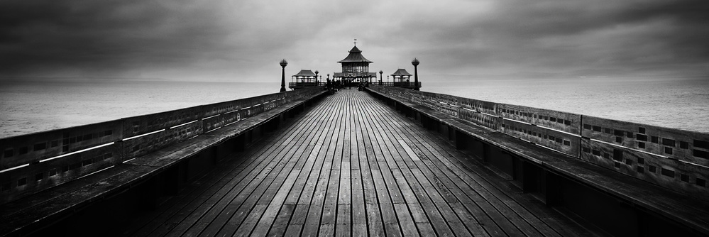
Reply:
[[[506, 177], [561, 211], [613, 235], [709, 236], [709, 202], [534, 145], [436, 111], [429, 106], [368, 92], [438, 131]], [[509, 170], [505, 170], [509, 168]]]

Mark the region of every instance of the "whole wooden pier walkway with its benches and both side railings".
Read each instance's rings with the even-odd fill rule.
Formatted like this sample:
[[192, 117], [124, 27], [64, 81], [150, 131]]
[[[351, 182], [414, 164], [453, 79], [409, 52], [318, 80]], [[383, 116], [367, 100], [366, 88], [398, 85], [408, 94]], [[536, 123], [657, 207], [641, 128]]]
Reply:
[[0, 233], [706, 236], [707, 140], [375, 84], [312, 87], [3, 139]]

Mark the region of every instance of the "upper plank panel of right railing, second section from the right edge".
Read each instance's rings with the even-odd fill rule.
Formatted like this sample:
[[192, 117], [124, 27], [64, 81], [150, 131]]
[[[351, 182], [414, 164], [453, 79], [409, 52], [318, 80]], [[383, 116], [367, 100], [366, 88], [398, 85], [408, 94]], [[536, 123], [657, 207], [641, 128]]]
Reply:
[[566, 133], [579, 134], [581, 115], [512, 104], [497, 104], [498, 115]]

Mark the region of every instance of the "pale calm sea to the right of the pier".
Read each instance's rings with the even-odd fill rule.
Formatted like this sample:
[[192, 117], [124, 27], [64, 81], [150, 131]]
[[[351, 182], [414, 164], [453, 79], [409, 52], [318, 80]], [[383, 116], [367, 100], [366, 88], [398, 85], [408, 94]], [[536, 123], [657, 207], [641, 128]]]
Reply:
[[709, 78], [482, 79], [422, 90], [709, 133]]

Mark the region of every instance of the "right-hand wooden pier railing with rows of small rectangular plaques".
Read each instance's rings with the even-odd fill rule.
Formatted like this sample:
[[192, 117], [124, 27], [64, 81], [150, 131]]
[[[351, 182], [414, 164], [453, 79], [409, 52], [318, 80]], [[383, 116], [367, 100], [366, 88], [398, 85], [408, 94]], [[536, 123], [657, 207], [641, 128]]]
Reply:
[[389, 97], [426, 106], [529, 143], [661, 187], [709, 199], [709, 134], [549, 109], [370, 84]]

